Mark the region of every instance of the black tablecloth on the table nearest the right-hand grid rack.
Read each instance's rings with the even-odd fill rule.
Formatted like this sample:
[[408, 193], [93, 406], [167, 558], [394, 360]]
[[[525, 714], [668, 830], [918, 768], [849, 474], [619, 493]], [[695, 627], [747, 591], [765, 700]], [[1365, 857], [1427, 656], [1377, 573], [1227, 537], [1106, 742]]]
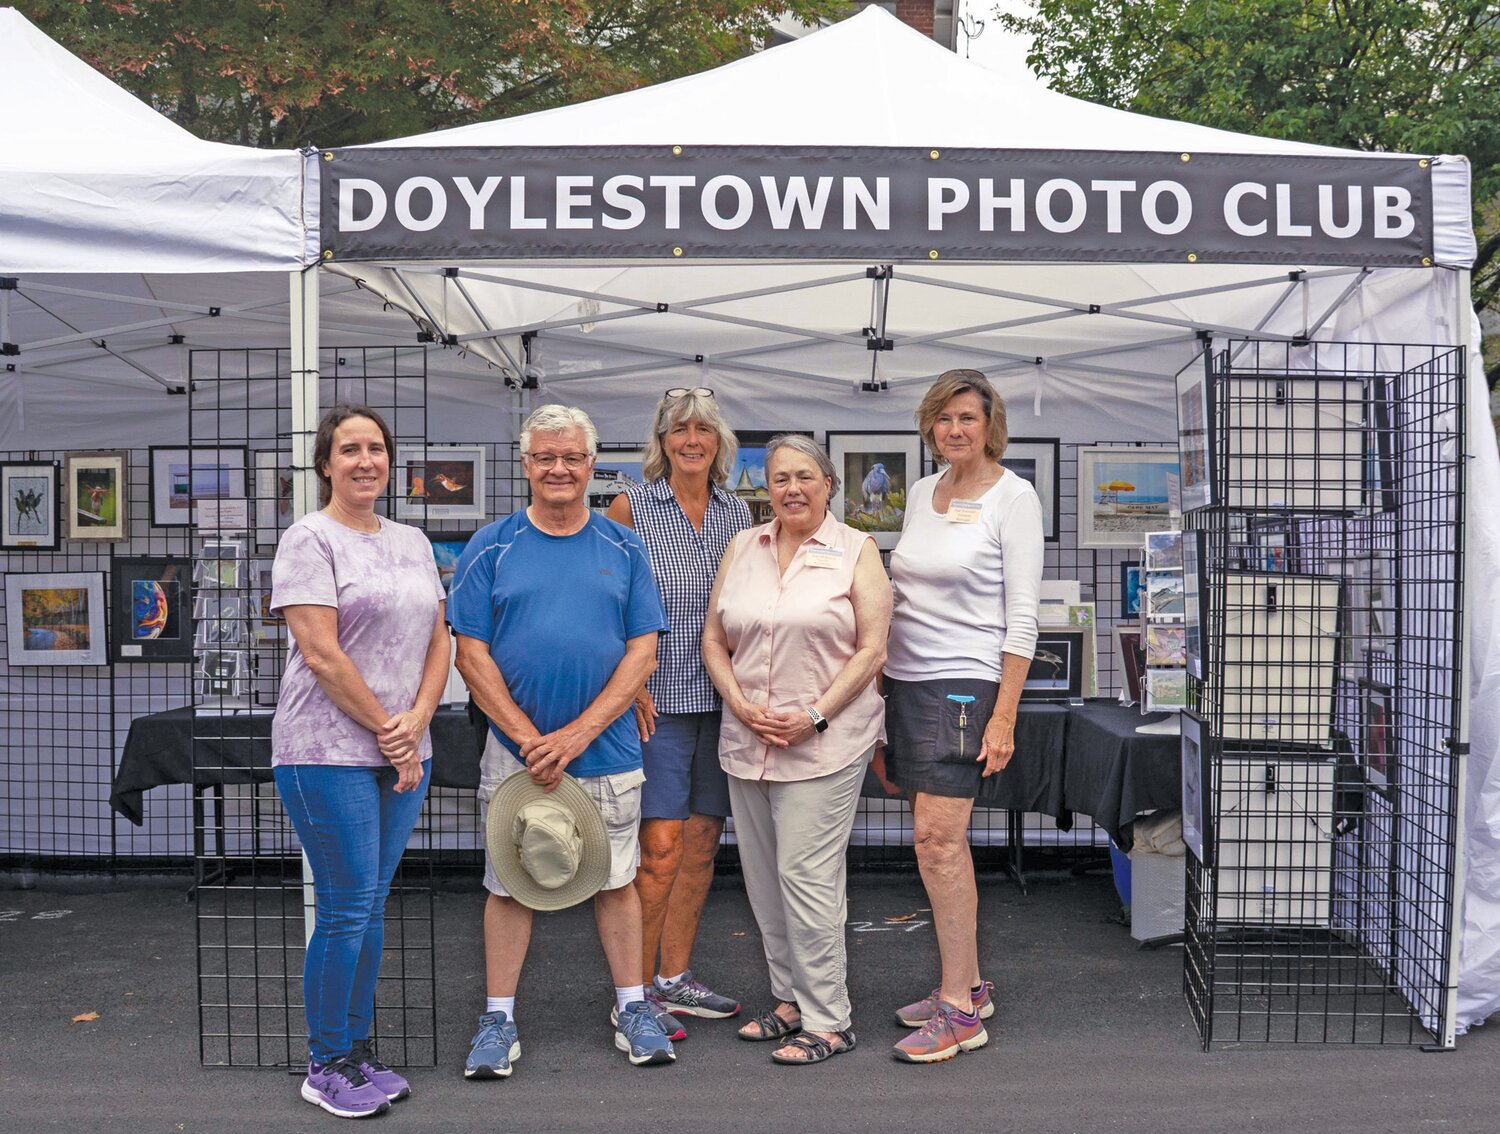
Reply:
[[1090, 816], [1122, 850], [1134, 843], [1137, 816], [1182, 807], [1182, 740], [1136, 732], [1148, 720], [1166, 718], [1104, 700], [1068, 714], [1064, 806]]

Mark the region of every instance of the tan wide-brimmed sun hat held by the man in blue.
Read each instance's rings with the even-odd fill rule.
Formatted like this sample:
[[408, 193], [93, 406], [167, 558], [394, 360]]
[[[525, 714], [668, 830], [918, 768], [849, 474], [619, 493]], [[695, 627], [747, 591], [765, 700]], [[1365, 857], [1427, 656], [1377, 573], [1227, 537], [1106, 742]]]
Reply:
[[572, 776], [550, 792], [507, 776], [489, 800], [484, 844], [506, 892], [531, 909], [576, 906], [609, 878], [604, 818]]

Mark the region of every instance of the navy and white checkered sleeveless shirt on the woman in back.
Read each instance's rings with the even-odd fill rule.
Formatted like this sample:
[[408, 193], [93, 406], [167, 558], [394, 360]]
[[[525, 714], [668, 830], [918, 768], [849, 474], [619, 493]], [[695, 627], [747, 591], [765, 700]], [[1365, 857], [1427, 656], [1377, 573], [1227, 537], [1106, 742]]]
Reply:
[[750, 526], [740, 496], [710, 486], [704, 530], [698, 531], [664, 480], [626, 489], [630, 519], [651, 556], [666, 608], [668, 633], [657, 636], [657, 669], [646, 681], [657, 712], [717, 712], [718, 692], [704, 669], [704, 620], [724, 548]]

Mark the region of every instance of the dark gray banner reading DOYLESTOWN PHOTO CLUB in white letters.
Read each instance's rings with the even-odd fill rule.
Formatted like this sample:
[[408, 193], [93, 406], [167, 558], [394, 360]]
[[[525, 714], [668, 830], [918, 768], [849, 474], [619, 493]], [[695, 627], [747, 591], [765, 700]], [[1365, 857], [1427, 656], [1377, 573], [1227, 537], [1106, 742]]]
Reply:
[[330, 150], [328, 260], [1424, 264], [1420, 158], [816, 147]]

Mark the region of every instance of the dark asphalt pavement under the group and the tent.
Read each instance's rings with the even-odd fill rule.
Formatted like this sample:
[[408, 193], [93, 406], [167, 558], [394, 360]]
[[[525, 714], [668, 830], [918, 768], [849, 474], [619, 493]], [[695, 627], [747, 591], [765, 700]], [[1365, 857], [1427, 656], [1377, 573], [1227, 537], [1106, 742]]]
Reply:
[[[0, 890], [0, 1134], [330, 1131], [285, 1071], [198, 1062], [194, 908], [183, 880]], [[438, 1066], [370, 1122], [432, 1131], [1416, 1131], [1491, 1130], [1500, 1022], [1456, 1052], [1257, 1046], [1204, 1053], [1182, 951], [1142, 950], [1104, 874], [981, 882], [981, 951], [999, 986], [990, 1044], [945, 1064], [891, 1058], [892, 1011], [936, 980], [912, 873], [850, 882], [856, 1050], [776, 1066], [734, 1022], [687, 1020], [675, 1065], [633, 1068], [606, 1022], [588, 906], [538, 916], [518, 999], [522, 1058], [502, 1082], [459, 1072], [483, 1008], [477, 890], [434, 898]], [[897, 921], [900, 918], [900, 921]], [[729, 878], [705, 912], [698, 974], [770, 1006], [754, 920]]]

